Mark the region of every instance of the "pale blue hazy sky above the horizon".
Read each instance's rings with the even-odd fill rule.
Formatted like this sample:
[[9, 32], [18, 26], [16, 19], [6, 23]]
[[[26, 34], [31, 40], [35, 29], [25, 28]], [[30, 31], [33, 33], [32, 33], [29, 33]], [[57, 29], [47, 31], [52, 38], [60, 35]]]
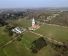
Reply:
[[68, 7], [68, 0], [0, 0], [2, 8], [61, 8]]

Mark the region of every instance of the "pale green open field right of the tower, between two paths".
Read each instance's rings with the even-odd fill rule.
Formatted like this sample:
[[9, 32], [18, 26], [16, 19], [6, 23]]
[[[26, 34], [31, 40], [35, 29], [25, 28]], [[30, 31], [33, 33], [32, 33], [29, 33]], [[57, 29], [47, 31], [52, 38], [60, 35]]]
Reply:
[[68, 28], [64, 28], [62, 26], [44, 24], [35, 32], [46, 37], [53, 38], [57, 41], [68, 41]]

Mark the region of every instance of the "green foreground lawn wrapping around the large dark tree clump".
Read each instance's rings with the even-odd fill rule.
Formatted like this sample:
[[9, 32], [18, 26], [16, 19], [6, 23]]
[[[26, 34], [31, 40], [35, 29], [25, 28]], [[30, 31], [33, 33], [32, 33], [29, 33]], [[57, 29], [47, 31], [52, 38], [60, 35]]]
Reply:
[[[31, 43], [35, 39], [38, 39], [39, 36], [36, 36], [30, 32], [26, 32], [21, 41], [15, 41], [2, 49], [3, 55], [5, 56], [51, 56], [54, 53], [50, 46], [44, 47], [37, 54], [31, 52]], [[51, 51], [51, 52], [50, 52]]]

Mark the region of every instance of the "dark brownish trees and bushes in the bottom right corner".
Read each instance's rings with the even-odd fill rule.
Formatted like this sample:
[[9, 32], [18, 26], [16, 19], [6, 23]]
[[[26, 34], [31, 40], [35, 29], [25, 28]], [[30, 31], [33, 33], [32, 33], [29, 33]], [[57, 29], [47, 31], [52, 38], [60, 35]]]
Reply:
[[64, 43], [64, 45], [59, 44], [50, 44], [51, 48], [55, 51], [54, 56], [68, 56], [68, 43]]

